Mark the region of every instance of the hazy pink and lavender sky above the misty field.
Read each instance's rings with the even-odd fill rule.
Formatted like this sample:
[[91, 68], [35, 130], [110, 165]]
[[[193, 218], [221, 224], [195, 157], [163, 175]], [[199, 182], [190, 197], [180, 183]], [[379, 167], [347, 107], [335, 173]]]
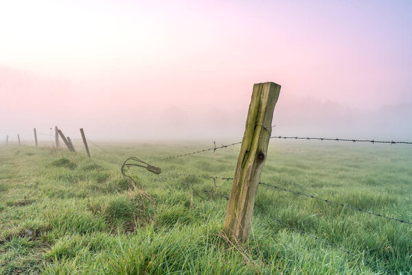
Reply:
[[0, 4], [0, 135], [238, 136], [266, 81], [282, 118], [412, 102], [410, 1], [85, 2]]

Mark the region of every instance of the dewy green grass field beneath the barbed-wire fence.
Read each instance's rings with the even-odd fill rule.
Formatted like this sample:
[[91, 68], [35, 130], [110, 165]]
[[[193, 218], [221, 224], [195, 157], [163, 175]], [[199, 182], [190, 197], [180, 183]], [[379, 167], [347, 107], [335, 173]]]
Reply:
[[[412, 274], [412, 225], [260, 186], [249, 247], [222, 235], [239, 146], [156, 162], [211, 144], [0, 147], [0, 274]], [[273, 140], [261, 181], [412, 220], [412, 146]], [[118, 159], [117, 159], [118, 158]], [[201, 197], [199, 197], [201, 195]], [[348, 250], [332, 248], [304, 230]]]

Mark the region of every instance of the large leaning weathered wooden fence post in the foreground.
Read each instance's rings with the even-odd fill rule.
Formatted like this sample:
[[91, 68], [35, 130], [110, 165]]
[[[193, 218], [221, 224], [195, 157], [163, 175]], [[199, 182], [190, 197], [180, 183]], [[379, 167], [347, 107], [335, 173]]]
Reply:
[[224, 225], [225, 234], [235, 243], [245, 243], [249, 240], [253, 205], [260, 173], [266, 161], [272, 132], [273, 110], [279, 92], [280, 85], [276, 83], [253, 85]]

